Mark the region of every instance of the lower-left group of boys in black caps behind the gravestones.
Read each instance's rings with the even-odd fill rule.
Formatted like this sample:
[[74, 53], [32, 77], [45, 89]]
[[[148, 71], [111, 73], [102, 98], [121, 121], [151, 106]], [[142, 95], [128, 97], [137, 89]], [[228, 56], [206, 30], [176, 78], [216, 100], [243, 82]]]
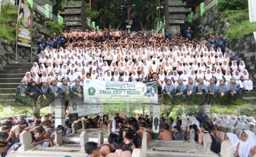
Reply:
[[[63, 131], [65, 128], [58, 125], [54, 128], [55, 117], [52, 114], [47, 114], [43, 119], [35, 119], [35, 117], [27, 118], [26, 115], [20, 117], [6, 117], [1, 122], [0, 130], [0, 156], [5, 157], [10, 153], [15, 152], [21, 147], [20, 134], [22, 131], [29, 131], [32, 137], [32, 145], [35, 147], [52, 147], [56, 145], [54, 131]], [[69, 143], [67, 140], [66, 143]]]

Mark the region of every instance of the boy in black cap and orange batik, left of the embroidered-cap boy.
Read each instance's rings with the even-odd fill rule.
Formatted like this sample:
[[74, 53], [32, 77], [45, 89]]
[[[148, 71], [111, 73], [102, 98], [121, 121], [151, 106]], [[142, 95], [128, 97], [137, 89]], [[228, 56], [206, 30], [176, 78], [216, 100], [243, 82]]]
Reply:
[[107, 154], [114, 151], [113, 141], [114, 141], [115, 136], [117, 136], [117, 135], [111, 133], [108, 136], [107, 141], [104, 141], [102, 145], [98, 146], [99, 150], [101, 151], [100, 157], [105, 157], [105, 156], [107, 156]]

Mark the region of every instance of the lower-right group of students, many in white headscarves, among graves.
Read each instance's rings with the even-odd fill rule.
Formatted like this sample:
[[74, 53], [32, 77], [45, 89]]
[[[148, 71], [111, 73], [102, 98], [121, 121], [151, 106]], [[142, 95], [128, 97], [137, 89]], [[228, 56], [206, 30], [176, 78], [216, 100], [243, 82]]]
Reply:
[[[161, 118], [161, 117], [160, 117]], [[222, 127], [231, 128], [230, 132], [222, 132]], [[212, 117], [206, 117], [205, 121], [199, 123], [196, 117], [186, 116], [182, 119], [178, 116], [172, 123], [172, 129], [169, 131], [169, 125], [163, 125], [163, 132], [160, 133], [160, 140], [173, 140], [178, 136], [179, 140], [189, 140], [191, 136], [195, 141], [202, 145], [205, 134], [210, 134], [212, 139], [211, 150], [220, 153], [221, 143], [224, 140], [230, 140], [233, 145], [235, 157], [248, 157], [256, 154], [256, 121], [254, 117], [219, 115], [213, 114]], [[194, 129], [195, 134], [190, 135], [190, 129]], [[240, 134], [236, 134], [236, 130]]]

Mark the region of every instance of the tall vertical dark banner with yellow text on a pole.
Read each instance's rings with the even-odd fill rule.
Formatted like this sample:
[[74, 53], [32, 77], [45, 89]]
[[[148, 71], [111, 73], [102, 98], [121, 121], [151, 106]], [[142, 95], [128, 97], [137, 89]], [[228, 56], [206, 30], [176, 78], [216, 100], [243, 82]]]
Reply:
[[32, 23], [31, 23], [31, 6], [27, 0], [20, 1], [16, 38], [17, 45], [32, 46]]

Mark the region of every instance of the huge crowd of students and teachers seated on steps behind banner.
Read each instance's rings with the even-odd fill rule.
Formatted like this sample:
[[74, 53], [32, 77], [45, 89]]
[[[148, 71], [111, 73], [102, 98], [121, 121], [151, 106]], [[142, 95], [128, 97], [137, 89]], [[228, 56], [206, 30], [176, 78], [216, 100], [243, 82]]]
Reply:
[[32, 97], [38, 90], [42, 99], [48, 92], [65, 96], [74, 91], [81, 98], [87, 79], [157, 80], [159, 94], [165, 90], [176, 95], [188, 93], [188, 96], [207, 93], [234, 96], [253, 88], [244, 61], [228, 47], [210, 45], [205, 37], [200, 41], [185, 39], [180, 34], [170, 39], [142, 34], [124, 38], [121, 33], [118, 41], [104, 38], [74, 47], [47, 46], [25, 74], [17, 93]]

